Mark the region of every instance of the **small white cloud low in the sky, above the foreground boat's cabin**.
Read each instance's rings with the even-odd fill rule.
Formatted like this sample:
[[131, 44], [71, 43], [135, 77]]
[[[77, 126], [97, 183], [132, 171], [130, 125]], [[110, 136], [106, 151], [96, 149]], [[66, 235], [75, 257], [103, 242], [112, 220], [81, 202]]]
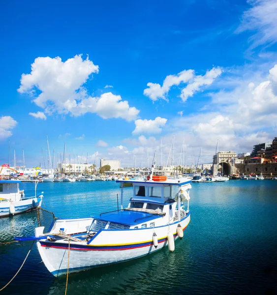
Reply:
[[135, 120], [136, 128], [132, 132], [132, 134], [139, 134], [139, 133], [160, 133], [161, 127], [166, 124], [167, 119], [157, 117], [154, 120], [147, 120], [147, 119], [138, 119]]

